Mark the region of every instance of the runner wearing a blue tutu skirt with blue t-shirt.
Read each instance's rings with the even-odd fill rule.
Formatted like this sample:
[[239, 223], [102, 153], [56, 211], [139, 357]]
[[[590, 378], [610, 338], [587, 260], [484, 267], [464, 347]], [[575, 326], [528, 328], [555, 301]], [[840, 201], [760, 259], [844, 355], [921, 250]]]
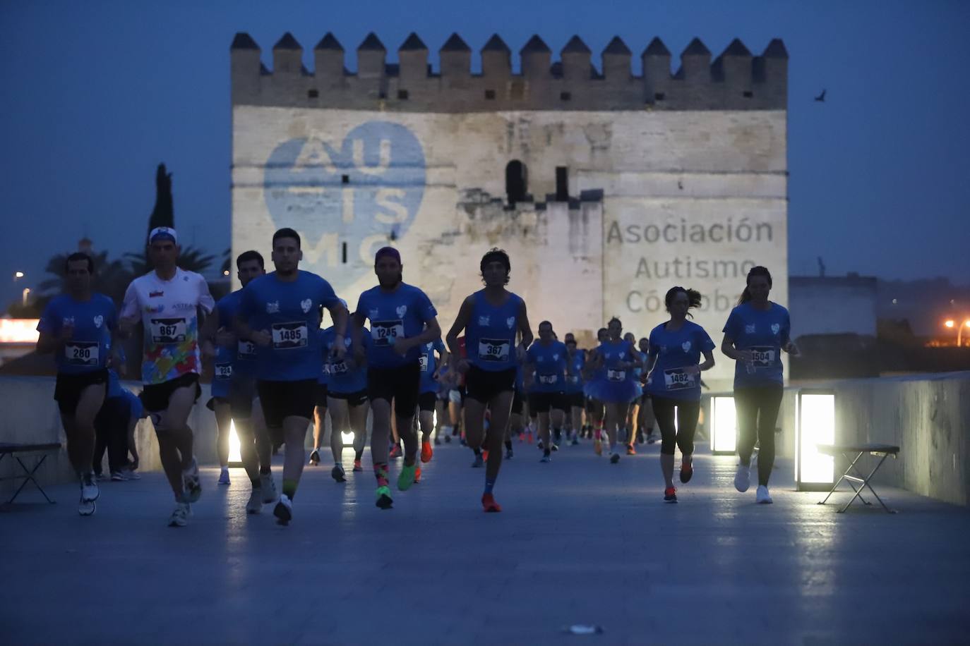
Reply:
[[[633, 369], [640, 361], [633, 354], [633, 344], [623, 339], [623, 323], [613, 318], [606, 325], [608, 338], [590, 353], [588, 370], [596, 371], [591, 392], [606, 409], [604, 417], [606, 438], [609, 442], [609, 461], [616, 464], [620, 454], [616, 451], [617, 429], [627, 416], [627, 407], [636, 391]], [[601, 454], [599, 439], [593, 442], [593, 450]]]

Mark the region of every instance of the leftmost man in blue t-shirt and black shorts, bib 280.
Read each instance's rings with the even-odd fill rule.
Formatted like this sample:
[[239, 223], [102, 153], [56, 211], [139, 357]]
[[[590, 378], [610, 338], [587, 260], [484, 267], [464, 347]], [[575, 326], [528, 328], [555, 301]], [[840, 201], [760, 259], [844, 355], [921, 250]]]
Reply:
[[55, 296], [41, 315], [37, 352], [54, 354], [57, 383], [54, 400], [67, 437], [71, 466], [81, 485], [78, 512], [94, 513], [100, 492], [91, 469], [94, 455], [94, 417], [108, 389], [109, 353], [118, 319], [114, 303], [91, 292], [94, 261], [81, 252], [65, 261], [66, 292]]

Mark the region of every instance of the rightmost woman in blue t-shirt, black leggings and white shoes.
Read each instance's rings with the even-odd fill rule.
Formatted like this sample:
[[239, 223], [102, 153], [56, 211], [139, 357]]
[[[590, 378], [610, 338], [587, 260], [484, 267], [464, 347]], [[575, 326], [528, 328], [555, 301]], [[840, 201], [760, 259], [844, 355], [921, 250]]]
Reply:
[[735, 360], [734, 405], [737, 408], [737, 473], [734, 488], [751, 486], [751, 453], [758, 452], [756, 500], [771, 504], [768, 478], [775, 463], [775, 422], [782, 403], [781, 352], [796, 356], [788, 310], [768, 300], [771, 273], [761, 266], [748, 272], [747, 287], [727, 317], [721, 352]]

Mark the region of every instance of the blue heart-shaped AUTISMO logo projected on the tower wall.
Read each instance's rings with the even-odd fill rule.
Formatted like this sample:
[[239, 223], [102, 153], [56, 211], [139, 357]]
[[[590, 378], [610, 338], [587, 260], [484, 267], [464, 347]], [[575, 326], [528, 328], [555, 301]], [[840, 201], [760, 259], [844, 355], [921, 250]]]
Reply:
[[[366, 121], [345, 135], [311, 126], [276, 145], [263, 194], [275, 227], [295, 227], [302, 236], [303, 268], [326, 276], [339, 293], [372, 272], [378, 247], [413, 225], [426, 166], [420, 140], [400, 123]], [[341, 242], [360, 256], [351, 252], [336, 272], [330, 267]]]

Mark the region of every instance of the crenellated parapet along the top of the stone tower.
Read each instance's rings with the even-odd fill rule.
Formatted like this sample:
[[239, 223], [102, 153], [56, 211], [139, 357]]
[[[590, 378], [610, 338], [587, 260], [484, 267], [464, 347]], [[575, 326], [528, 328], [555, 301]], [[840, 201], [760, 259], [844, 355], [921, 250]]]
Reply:
[[759, 56], [735, 39], [711, 61], [694, 39], [671, 71], [670, 51], [655, 38], [640, 54], [643, 74], [634, 76], [632, 53], [619, 37], [600, 54], [578, 37], [560, 58], [533, 36], [519, 51], [521, 73], [512, 74], [512, 51], [499, 35], [481, 49], [481, 74], [471, 73], [471, 47], [458, 34], [438, 50], [437, 71], [428, 46], [410, 34], [398, 48], [398, 63], [373, 33], [357, 47], [357, 72], [344, 64], [343, 46], [328, 33], [313, 47], [313, 71], [303, 64], [303, 46], [289, 33], [273, 47], [273, 70], [260, 48], [239, 33], [230, 48], [232, 100], [236, 106], [376, 109], [404, 112], [499, 110], [744, 110], [785, 109], [788, 51], [772, 40]]

